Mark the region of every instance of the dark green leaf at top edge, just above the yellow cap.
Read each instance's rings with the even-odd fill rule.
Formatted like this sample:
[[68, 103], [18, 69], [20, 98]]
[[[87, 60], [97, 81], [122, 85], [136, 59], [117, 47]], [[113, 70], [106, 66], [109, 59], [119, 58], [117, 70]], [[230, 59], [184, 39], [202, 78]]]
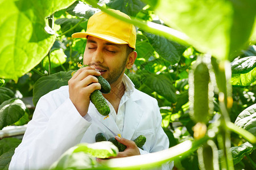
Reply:
[[130, 16], [136, 16], [145, 6], [140, 0], [110, 0], [106, 5]]

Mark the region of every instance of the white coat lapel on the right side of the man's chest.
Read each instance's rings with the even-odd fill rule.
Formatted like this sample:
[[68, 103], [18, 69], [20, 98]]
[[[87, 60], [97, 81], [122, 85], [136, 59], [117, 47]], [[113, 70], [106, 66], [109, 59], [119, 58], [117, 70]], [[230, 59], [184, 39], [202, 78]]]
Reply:
[[143, 109], [138, 104], [140, 97], [134, 94], [126, 101], [125, 121], [123, 124], [122, 137], [131, 140], [143, 115]]

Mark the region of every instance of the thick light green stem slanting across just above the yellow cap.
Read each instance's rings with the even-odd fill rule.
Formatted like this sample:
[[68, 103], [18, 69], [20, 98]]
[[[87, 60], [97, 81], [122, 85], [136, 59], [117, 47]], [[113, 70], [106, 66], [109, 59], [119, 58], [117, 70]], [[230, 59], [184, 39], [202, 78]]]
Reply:
[[92, 5], [95, 8], [99, 8], [100, 10], [106, 12], [107, 14], [114, 16], [115, 18], [123, 20], [123, 22], [134, 24], [137, 27], [140, 27], [140, 28], [144, 29], [145, 31], [154, 33], [156, 35], [164, 36], [167, 39], [176, 41], [180, 44], [189, 45], [190, 39], [187, 35], [185, 35], [185, 33], [179, 32], [175, 29], [172, 29], [170, 27], [166, 27], [166, 26], [161, 25], [161, 24], [156, 24], [156, 23], [153, 23], [153, 22], [145, 22], [144, 20], [133, 18], [133, 17], [131, 17], [131, 19], [127, 19], [123, 16], [115, 14], [114, 12], [108, 10], [105, 7], [102, 7], [102, 6], [98, 5], [97, 2], [95, 2], [93, 0], [84, 0], [84, 1], [86, 3], [89, 3], [90, 5]]

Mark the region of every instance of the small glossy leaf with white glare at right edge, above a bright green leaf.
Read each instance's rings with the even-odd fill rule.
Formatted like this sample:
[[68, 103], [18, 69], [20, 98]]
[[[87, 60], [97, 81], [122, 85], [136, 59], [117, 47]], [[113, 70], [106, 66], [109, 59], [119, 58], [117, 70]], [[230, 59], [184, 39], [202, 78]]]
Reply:
[[232, 74], [248, 73], [256, 67], [256, 56], [244, 57], [231, 63]]

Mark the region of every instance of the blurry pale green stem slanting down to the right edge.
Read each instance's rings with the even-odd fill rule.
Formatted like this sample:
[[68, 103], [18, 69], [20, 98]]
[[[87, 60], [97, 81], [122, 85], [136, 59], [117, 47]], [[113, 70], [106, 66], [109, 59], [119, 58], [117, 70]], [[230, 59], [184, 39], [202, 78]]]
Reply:
[[250, 142], [251, 144], [253, 145], [256, 144], [256, 137], [253, 134], [251, 134], [249, 131], [243, 128], [239, 128], [232, 122], [227, 122], [226, 128], [228, 128], [230, 131], [233, 131], [234, 133], [241, 135], [243, 138], [246, 139], [246, 141]]

